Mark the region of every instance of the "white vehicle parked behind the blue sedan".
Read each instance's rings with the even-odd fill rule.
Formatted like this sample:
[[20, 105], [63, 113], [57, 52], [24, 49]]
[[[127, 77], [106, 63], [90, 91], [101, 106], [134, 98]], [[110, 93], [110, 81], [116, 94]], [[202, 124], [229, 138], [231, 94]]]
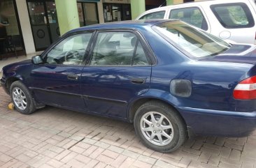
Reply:
[[256, 44], [254, 0], [211, 0], [145, 11], [136, 20], [176, 19], [236, 43]]

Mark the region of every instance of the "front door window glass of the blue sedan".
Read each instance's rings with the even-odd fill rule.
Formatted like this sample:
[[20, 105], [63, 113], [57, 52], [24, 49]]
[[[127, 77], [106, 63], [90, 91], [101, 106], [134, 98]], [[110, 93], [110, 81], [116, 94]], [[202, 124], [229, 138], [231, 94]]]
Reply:
[[48, 52], [45, 63], [81, 65], [92, 33], [81, 33], [62, 40]]

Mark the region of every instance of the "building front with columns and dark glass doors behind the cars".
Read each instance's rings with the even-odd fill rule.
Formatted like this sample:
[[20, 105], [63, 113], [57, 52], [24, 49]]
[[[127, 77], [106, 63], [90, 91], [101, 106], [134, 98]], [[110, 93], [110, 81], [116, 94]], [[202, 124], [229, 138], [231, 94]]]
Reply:
[[150, 8], [188, 1], [192, 0], [2, 0], [0, 54], [13, 50], [8, 43], [15, 43], [20, 54], [32, 54], [73, 27], [131, 20]]

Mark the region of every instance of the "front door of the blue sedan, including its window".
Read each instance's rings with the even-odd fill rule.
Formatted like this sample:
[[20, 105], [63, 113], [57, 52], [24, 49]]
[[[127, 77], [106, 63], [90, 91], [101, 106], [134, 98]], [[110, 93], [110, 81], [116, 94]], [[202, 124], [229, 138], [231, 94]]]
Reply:
[[80, 89], [85, 50], [92, 33], [73, 34], [43, 56], [31, 71], [34, 96], [46, 105], [85, 109]]

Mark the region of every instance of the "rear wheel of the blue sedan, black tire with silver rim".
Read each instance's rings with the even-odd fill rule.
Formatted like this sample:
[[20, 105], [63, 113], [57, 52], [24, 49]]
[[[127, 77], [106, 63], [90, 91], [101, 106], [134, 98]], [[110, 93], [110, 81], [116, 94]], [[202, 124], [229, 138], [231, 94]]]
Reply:
[[[141, 121], [142, 118], [146, 121], [152, 121], [150, 114], [156, 119], [156, 122], [152, 122], [154, 124], [149, 125], [149, 122]], [[162, 122], [159, 121], [160, 118]], [[167, 129], [165, 126], [170, 128]], [[137, 109], [134, 116], [134, 128], [136, 135], [142, 139], [145, 146], [162, 153], [176, 151], [187, 139], [186, 125], [180, 114], [168, 105], [155, 100], [145, 102]], [[150, 130], [143, 131], [142, 128]], [[169, 135], [169, 137], [166, 137], [166, 135]], [[150, 139], [150, 137], [154, 137], [154, 139]]]

